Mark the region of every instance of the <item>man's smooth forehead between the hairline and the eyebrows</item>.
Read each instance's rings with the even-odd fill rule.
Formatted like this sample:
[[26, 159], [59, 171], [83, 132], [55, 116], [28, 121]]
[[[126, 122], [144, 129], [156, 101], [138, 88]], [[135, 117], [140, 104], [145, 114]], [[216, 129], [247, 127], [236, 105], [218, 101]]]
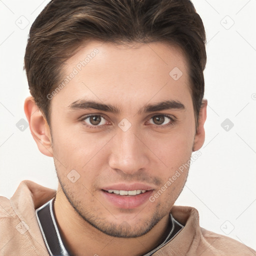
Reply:
[[63, 73], [64, 86], [53, 97], [63, 107], [81, 98], [111, 101], [120, 108], [126, 104], [130, 109], [163, 97], [191, 99], [185, 55], [164, 42], [92, 41], [66, 61]]

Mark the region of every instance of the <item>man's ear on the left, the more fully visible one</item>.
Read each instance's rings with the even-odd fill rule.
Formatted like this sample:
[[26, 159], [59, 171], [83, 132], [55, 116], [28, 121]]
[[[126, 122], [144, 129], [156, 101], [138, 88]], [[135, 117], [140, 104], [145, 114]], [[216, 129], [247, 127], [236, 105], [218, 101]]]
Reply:
[[24, 111], [29, 123], [31, 134], [41, 153], [53, 156], [51, 147], [50, 128], [44, 116], [41, 114], [34, 98], [29, 96], [24, 102]]

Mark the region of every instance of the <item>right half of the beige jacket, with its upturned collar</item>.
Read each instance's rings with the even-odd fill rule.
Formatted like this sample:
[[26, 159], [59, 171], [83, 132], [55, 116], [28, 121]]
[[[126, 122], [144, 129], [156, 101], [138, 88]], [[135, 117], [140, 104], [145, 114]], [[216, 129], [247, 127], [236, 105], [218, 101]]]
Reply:
[[256, 256], [256, 251], [245, 244], [200, 227], [198, 211], [193, 207], [174, 205], [171, 214], [184, 227], [166, 249], [175, 247], [181, 255]]

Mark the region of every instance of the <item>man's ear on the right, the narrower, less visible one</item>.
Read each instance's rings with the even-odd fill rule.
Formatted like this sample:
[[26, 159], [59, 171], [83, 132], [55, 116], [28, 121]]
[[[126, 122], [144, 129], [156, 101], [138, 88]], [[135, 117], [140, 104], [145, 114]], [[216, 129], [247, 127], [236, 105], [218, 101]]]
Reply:
[[206, 107], [207, 107], [207, 100], [203, 99], [202, 105], [199, 111], [199, 116], [198, 116], [198, 127], [194, 136], [193, 151], [200, 149], [204, 142], [205, 131], [204, 131], [203, 124], [206, 120]]

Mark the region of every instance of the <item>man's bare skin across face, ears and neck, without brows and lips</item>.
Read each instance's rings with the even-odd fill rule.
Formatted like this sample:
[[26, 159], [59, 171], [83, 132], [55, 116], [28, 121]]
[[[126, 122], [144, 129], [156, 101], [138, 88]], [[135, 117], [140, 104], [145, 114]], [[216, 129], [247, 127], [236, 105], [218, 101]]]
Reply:
[[[188, 169], [154, 202], [135, 208], [116, 207], [101, 189], [138, 182], [157, 192], [202, 146], [207, 102], [195, 130], [186, 58], [178, 47], [163, 42], [116, 46], [92, 41], [67, 60], [64, 74], [94, 48], [99, 50], [95, 57], [50, 100], [50, 127], [31, 96], [24, 110], [39, 150], [54, 159], [59, 180], [54, 211], [68, 250], [75, 255], [141, 255], [163, 241]], [[183, 73], [178, 80], [169, 75], [174, 67]], [[119, 113], [68, 107], [81, 99], [114, 105]], [[184, 108], [138, 111], [163, 100]], [[95, 127], [84, 119], [88, 114], [104, 118]], [[123, 118], [131, 124], [126, 131], [118, 126]], [[74, 183], [67, 178], [72, 169], [80, 175]]]

